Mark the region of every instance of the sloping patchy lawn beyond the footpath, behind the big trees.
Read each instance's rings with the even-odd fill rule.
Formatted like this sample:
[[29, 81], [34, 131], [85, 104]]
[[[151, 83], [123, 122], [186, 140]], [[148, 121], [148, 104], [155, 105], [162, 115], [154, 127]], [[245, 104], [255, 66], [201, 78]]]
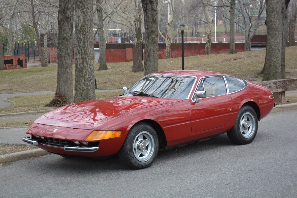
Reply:
[[[237, 54], [214, 54], [185, 57], [185, 69], [217, 71], [239, 78], [260, 80], [266, 50], [239, 52]], [[297, 46], [286, 48], [286, 78], [297, 76]], [[108, 63], [108, 70], [97, 71], [95, 78], [99, 89], [131, 87], [144, 72], [132, 73], [132, 62]], [[181, 58], [160, 59], [158, 71], [181, 69]], [[73, 67], [73, 83], [74, 83]], [[57, 67], [38, 67], [0, 71], [0, 93], [55, 91]]]

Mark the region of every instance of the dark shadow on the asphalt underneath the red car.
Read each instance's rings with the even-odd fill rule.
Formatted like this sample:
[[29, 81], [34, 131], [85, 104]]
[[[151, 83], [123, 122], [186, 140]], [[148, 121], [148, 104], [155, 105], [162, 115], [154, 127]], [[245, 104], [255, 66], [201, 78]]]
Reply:
[[[179, 159], [192, 158], [192, 156], [201, 157], [203, 155], [209, 155], [214, 150], [229, 150], [236, 146], [232, 144], [226, 134], [222, 134], [211, 140], [206, 140], [203, 142], [189, 144], [184, 147], [173, 148], [172, 150], [161, 151], [154, 164], [147, 168], [154, 168], [156, 165], [167, 164], [167, 162], [173, 162]], [[229, 149], [228, 149], [229, 148]], [[58, 157], [58, 158], [57, 158]], [[60, 156], [55, 156], [54, 160], [50, 161], [50, 164], [45, 166], [56, 167], [57, 169], [64, 169], [64, 171], [79, 171], [79, 172], [106, 172], [112, 171], [129, 171], [118, 159], [118, 157], [112, 157], [106, 160], [88, 159], [88, 158], [63, 158]]]

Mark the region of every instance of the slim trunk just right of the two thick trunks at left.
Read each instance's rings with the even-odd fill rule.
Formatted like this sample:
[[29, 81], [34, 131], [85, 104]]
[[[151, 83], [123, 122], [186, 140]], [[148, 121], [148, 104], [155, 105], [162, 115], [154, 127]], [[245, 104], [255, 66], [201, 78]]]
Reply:
[[102, 0], [96, 0], [96, 8], [97, 8], [97, 19], [98, 19], [98, 34], [99, 34], [99, 69], [98, 70], [107, 70], [107, 64], [106, 64], [106, 55], [105, 55], [105, 47], [106, 42], [104, 39], [104, 25], [103, 25], [103, 11], [102, 7], [100, 6], [102, 4]]

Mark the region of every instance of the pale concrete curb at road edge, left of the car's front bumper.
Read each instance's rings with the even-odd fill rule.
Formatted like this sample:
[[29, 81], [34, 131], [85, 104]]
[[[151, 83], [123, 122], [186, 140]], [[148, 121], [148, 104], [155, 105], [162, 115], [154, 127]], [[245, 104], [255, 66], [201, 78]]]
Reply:
[[20, 152], [0, 155], [0, 163], [15, 162], [21, 159], [28, 159], [30, 157], [37, 157], [37, 156], [47, 155], [47, 154], [50, 154], [50, 153], [42, 149], [20, 151]]

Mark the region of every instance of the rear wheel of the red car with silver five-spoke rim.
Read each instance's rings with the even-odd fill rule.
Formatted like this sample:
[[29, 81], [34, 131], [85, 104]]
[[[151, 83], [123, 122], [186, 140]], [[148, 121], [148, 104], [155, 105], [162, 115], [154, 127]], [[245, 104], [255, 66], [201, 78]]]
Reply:
[[227, 132], [229, 140], [234, 144], [249, 144], [257, 134], [258, 119], [251, 106], [243, 106], [237, 115], [235, 125]]

